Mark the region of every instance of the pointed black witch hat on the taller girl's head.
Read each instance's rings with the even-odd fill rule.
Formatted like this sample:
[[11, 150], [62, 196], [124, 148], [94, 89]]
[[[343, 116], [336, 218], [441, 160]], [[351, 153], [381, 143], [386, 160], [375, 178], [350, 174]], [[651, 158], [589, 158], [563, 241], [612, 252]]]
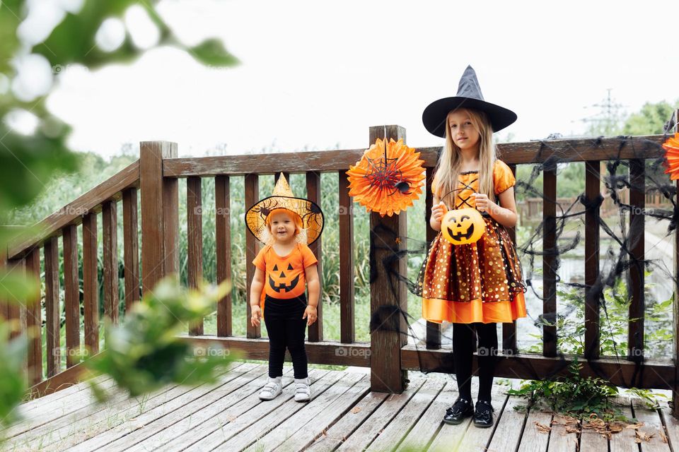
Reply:
[[480, 110], [486, 114], [494, 132], [504, 129], [516, 121], [516, 113], [483, 100], [479, 81], [472, 66], [467, 66], [460, 78], [458, 95], [443, 97], [431, 102], [422, 113], [422, 122], [429, 133], [441, 138], [446, 136], [446, 117], [448, 112], [458, 108]]

